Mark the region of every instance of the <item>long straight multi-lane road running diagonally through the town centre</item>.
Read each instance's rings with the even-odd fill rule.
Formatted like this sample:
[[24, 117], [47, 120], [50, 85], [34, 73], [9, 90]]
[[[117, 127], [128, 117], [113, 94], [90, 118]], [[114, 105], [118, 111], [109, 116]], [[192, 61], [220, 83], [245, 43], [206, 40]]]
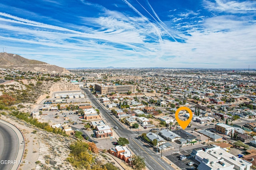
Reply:
[[140, 155], [144, 158], [146, 162], [146, 166], [150, 170], [174, 170], [169, 164], [164, 162], [164, 160], [161, 159], [160, 153], [156, 154], [152, 150], [145, 147], [145, 145], [138, 139], [138, 132], [130, 131], [126, 129], [122, 123], [117, 121], [116, 118], [114, 118], [112, 115], [110, 115], [106, 109], [98, 102], [97, 98], [94, 98], [94, 96], [90, 93], [89, 90], [82, 88], [84, 92], [86, 93], [86, 97], [90, 98], [92, 104], [94, 107], [98, 108], [100, 110], [100, 113], [102, 113], [102, 116], [104, 118], [104, 121], [108, 123], [108, 125], [114, 127], [117, 126], [118, 129], [114, 129], [114, 131], [118, 134], [119, 137], [125, 137], [129, 141], [128, 147], [132, 149], [132, 151], [136, 155]]

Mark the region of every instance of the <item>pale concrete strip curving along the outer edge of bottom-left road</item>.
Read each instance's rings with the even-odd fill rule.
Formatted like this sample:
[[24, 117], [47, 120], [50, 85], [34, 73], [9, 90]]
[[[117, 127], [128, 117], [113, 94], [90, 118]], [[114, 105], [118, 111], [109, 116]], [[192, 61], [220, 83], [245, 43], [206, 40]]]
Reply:
[[14, 125], [12, 125], [12, 124], [4, 121], [4, 120], [1, 120], [1, 119], [0, 119], [0, 123], [3, 123], [5, 125], [9, 126], [16, 133], [16, 135], [18, 137], [18, 143], [19, 143], [18, 153], [17, 153], [17, 156], [15, 158], [15, 160], [17, 161], [17, 164], [13, 164], [12, 169], [11, 169], [11, 170], [17, 170], [20, 167], [20, 164], [18, 164], [18, 162], [22, 160], [24, 150], [25, 150], [24, 136], [22, 135], [21, 131], [16, 126], [14, 126]]

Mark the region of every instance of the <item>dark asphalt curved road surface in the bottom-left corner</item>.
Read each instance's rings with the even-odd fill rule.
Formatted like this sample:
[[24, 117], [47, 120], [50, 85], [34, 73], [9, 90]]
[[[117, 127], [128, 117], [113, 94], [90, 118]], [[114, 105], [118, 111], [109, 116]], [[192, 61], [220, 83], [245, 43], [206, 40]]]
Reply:
[[[16, 160], [19, 142], [16, 133], [7, 125], [0, 123], [0, 169], [10, 170], [15, 163], [3, 162]], [[18, 163], [16, 163], [18, 164]]]

